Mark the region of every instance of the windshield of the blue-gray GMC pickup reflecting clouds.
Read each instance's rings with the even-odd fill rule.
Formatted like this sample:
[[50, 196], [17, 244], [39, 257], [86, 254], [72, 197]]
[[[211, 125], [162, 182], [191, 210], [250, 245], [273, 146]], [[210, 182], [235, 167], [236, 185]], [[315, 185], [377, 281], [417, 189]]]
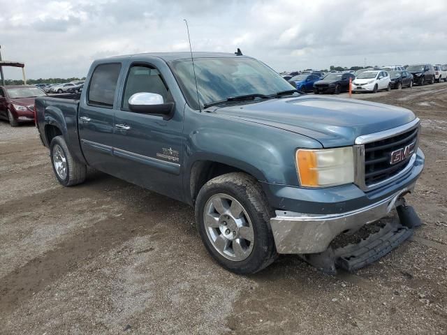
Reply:
[[[281, 75], [256, 61], [242, 57], [195, 58], [200, 108], [216, 101], [252, 94], [270, 95], [294, 89]], [[191, 59], [170, 62], [188, 104], [198, 110]]]

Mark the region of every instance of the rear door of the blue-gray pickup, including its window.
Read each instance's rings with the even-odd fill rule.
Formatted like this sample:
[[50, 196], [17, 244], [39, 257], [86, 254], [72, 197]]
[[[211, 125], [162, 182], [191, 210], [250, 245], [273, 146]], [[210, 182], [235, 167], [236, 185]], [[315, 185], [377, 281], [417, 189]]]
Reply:
[[78, 112], [80, 144], [87, 163], [110, 174], [114, 172], [112, 142], [121, 67], [121, 63], [110, 63], [94, 68]]

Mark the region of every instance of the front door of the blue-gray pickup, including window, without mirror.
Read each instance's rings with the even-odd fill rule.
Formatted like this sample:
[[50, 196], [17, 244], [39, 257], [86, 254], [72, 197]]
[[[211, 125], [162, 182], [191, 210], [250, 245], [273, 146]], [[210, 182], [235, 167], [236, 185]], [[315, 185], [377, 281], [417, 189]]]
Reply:
[[170, 198], [181, 199], [182, 124], [184, 105], [169, 119], [131, 112], [135, 93], [155, 93], [175, 102], [159, 70], [148, 64], [129, 68], [120, 107], [115, 111], [115, 175]]

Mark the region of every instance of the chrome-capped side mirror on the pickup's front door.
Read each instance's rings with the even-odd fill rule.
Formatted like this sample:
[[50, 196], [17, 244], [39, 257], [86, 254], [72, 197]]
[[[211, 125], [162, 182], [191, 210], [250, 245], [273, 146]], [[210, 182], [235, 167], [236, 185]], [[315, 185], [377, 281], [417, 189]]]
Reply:
[[129, 109], [141, 114], [170, 115], [174, 110], [174, 103], [165, 103], [163, 96], [156, 93], [140, 92], [129, 98]]

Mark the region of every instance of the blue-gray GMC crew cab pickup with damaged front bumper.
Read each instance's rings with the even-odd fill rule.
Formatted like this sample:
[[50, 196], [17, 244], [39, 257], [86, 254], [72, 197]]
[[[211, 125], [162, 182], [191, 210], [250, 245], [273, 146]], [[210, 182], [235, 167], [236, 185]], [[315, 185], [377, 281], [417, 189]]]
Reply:
[[420, 225], [404, 200], [424, 165], [413, 112], [300, 94], [240, 53], [94, 61], [82, 94], [36, 99], [36, 123], [62, 185], [89, 166], [190, 204], [207, 251], [239, 274], [281, 253], [354, 271]]

